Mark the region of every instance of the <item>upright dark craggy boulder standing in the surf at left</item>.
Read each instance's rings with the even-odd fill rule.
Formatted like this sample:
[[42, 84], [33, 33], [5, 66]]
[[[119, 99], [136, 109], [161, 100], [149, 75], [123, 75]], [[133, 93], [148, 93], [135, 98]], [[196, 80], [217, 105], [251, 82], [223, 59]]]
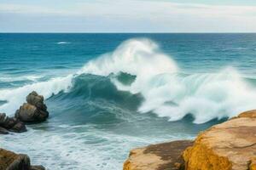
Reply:
[[26, 97], [25, 104], [16, 111], [15, 117], [22, 122], [44, 122], [48, 116], [47, 106], [44, 105], [44, 96], [33, 91]]

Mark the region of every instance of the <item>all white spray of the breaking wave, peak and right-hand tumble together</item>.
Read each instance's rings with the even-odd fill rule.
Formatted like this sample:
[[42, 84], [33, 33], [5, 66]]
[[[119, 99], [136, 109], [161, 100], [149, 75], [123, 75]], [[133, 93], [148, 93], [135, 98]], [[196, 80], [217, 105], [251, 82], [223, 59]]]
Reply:
[[170, 121], [192, 114], [195, 123], [203, 123], [235, 116], [255, 109], [256, 105], [256, 90], [235, 69], [183, 76], [172, 58], [147, 39], [124, 42], [112, 54], [91, 60], [82, 72], [101, 76], [119, 72], [135, 75], [131, 85], [123, 85], [117, 79], [113, 83], [119, 90], [143, 94], [145, 100], [138, 111], [153, 111], [158, 116], [169, 117]]

